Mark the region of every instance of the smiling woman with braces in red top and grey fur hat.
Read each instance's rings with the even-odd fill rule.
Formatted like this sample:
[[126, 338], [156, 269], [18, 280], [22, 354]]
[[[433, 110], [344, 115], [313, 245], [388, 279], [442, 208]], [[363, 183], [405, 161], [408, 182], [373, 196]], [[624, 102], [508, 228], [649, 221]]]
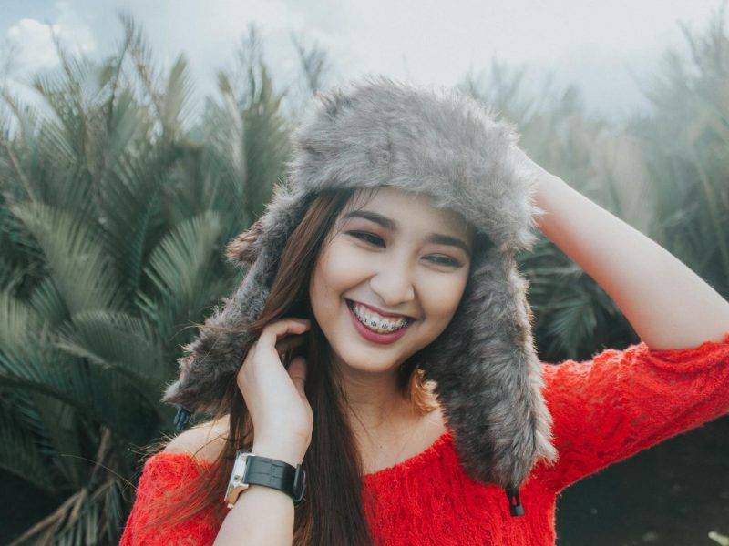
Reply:
[[[463, 102], [431, 99], [382, 79], [327, 99], [317, 113], [327, 130], [298, 134], [297, 172], [318, 162], [335, 182], [299, 201], [282, 192], [229, 247], [232, 259], [256, 260], [246, 297], [217, 315], [241, 317], [251, 306], [255, 319], [230, 329], [252, 334], [244, 359], [230, 380], [222, 373], [237, 349], [230, 339], [219, 338], [222, 349], [212, 338], [186, 348], [190, 360], [166, 399], [200, 401], [216, 419], [147, 460], [122, 544], [553, 544], [560, 490], [729, 411], [727, 302], [510, 146], [508, 126], [488, 125]], [[395, 128], [412, 132], [409, 147], [398, 134], [383, 155], [353, 136], [375, 135], [393, 111], [402, 120]], [[353, 130], [352, 119], [368, 130]], [[482, 157], [480, 136], [491, 137]], [[407, 163], [406, 152], [420, 161]], [[330, 177], [340, 160], [344, 171]], [[344, 177], [357, 161], [370, 171]], [[484, 177], [478, 168], [495, 170]], [[443, 177], [428, 185], [434, 172]], [[404, 173], [411, 179], [398, 183]], [[526, 179], [539, 208], [519, 199]], [[526, 286], [511, 258], [529, 244], [524, 215], [535, 212], [542, 232], [616, 301], [640, 344], [587, 362], [530, 359]], [[274, 236], [286, 244], [266, 261]], [[269, 273], [270, 290], [253, 292]], [[445, 354], [451, 360], [436, 359]], [[473, 354], [483, 361], [468, 364]], [[204, 368], [206, 355], [219, 366]], [[285, 492], [252, 485], [227, 508], [240, 448], [302, 464], [305, 501], [294, 507]], [[493, 468], [480, 474], [479, 463]], [[529, 506], [519, 518], [499, 493], [511, 483], [523, 485]]]

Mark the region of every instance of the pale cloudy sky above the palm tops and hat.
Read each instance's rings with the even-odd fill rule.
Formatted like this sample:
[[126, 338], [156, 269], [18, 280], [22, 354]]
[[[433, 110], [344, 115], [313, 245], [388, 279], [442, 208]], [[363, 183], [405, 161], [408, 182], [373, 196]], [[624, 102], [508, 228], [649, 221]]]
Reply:
[[[118, 47], [126, 10], [142, 25], [155, 59], [169, 66], [184, 52], [198, 98], [215, 93], [248, 25], [262, 34], [275, 86], [301, 81], [296, 35], [326, 53], [325, 84], [385, 74], [416, 84], [455, 86], [483, 75], [493, 60], [527, 70], [525, 91], [580, 88], [588, 112], [625, 118], [644, 109], [642, 89], [661, 74], [672, 48], [684, 56], [681, 29], [701, 33], [719, 0], [0, 0], [0, 58], [8, 83], [30, 100], [29, 75], [58, 59], [50, 25], [72, 50], [91, 58]], [[729, 10], [727, 10], [729, 11]], [[726, 18], [726, 17], [725, 17]], [[277, 87], [278, 88], [278, 87]]]

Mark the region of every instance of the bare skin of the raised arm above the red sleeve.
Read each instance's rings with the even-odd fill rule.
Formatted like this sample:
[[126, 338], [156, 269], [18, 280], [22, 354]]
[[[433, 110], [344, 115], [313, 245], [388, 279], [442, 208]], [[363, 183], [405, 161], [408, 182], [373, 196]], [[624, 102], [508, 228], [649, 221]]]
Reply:
[[687, 349], [721, 341], [729, 302], [640, 231], [519, 151], [537, 170], [535, 221], [615, 301], [650, 349]]

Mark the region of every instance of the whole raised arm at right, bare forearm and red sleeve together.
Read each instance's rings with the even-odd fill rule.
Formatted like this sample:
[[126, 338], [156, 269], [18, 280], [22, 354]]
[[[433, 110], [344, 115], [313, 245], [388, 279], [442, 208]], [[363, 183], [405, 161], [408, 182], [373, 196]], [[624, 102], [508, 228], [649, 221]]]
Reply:
[[665, 248], [551, 175], [537, 173], [539, 229], [615, 301], [641, 342], [544, 364], [561, 490], [729, 412], [729, 303]]

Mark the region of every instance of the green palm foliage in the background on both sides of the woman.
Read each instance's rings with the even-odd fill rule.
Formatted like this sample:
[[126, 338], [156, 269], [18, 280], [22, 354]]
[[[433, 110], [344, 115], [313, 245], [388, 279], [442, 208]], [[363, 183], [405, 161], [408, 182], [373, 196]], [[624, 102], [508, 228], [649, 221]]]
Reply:
[[[717, 18], [723, 21], [723, 16]], [[118, 52], [67, 55], [32, 83], [36, 109], [2, 90], [0, 467], [57, 499], [26, 541], [116, 543], [135, 448], [169, 432], [159, 403], [181, 346], [240, 281], [222, 248], [260, 216], [291, 154], [255, 29], [238, 75], [221, 71], [198, 119], [190, 70], [167, 74], [120, 15]], [[494, 64], [492, 104], [539, 164], [658, 241], [729, 294], [729, 42], [722, 26], [666, 56], [652, 109], [624, 126], [587, 116], [570, 87], [521, 100], [523, 73]], [[323, 54], [301, 54], [318, 90]], [[636, 341], [619, 309], [546, 238], [520, 257], [545, 360]]]

